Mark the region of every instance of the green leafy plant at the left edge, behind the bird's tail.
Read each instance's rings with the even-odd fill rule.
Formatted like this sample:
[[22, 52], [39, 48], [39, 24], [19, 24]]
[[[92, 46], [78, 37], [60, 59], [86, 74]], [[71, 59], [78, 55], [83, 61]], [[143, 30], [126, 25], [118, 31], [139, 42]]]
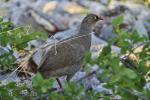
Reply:
[[7, 52], [0, 54], [0, 69], [13, 69], [16, 58], [14, 51], [23, 50], [31, 40], [46, 39], [43, 33], [28, 33], [26, 27], [14, 28], [13, 24], [0, 18], [0, 48], [8, 48]]

